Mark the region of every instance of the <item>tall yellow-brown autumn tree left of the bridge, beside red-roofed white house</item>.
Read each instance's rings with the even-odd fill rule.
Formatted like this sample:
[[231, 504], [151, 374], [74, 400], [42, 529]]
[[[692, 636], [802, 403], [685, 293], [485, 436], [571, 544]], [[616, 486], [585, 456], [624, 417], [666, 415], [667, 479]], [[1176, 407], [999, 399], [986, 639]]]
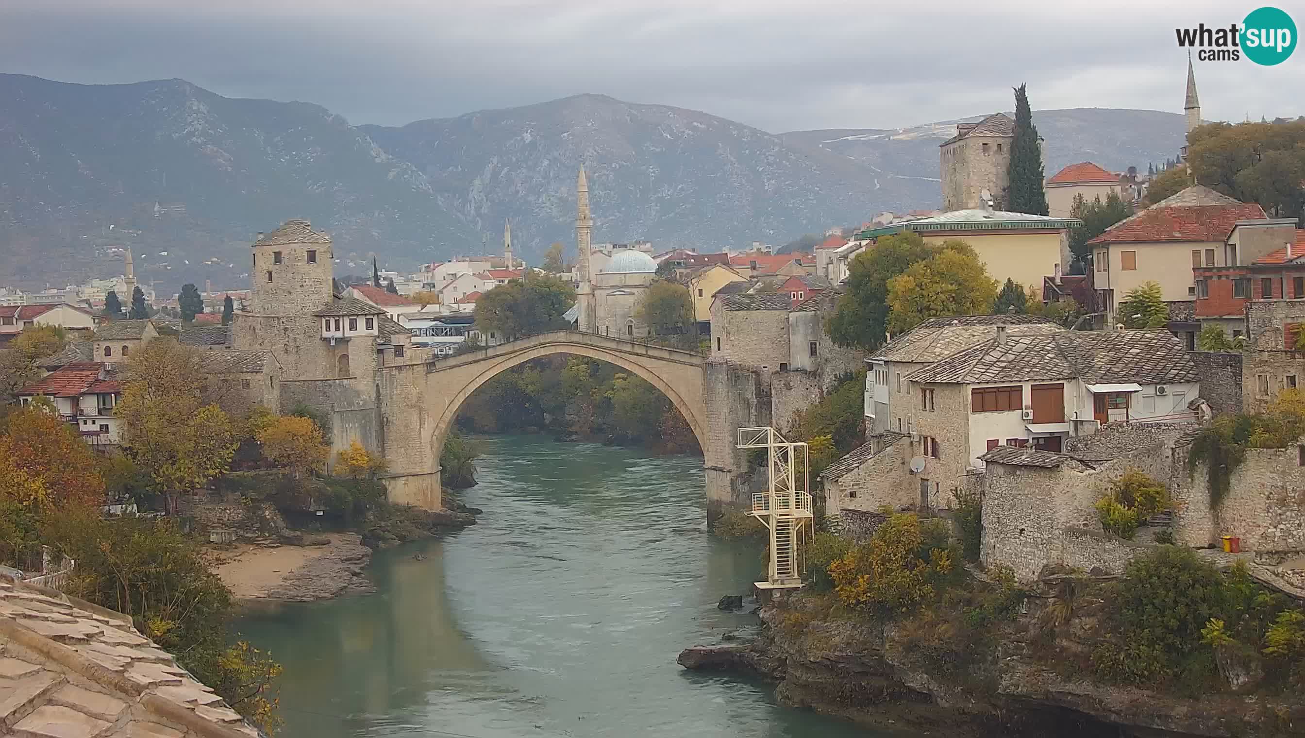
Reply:
[[226, 473], [236, 431], [221, 408], [205, 404], [201, 351], [157, 338], [132, 354], [115, 415], [132, 460], [176, 513], [179, 495]]

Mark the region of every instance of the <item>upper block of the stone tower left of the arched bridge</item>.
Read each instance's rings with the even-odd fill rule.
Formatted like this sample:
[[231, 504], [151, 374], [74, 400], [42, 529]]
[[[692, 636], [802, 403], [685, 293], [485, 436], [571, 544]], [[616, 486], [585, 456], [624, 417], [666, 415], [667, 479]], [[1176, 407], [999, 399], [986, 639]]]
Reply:
[[253, 243], [251, 312], [265, 316], [312, 315], [331, 299], [330, 236], [308, 221], [286, 221]]

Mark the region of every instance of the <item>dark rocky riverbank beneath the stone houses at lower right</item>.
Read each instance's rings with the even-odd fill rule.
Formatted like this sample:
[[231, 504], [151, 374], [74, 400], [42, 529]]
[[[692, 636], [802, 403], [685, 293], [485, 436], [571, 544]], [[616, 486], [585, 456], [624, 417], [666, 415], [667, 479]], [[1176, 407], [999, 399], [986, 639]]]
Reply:
[[1039, 738], [1305, 734], [1305, 707], [1291, 694], [1182, 698], [1092, 682], [1073, 660], [1048, 654], [1100, 637], [1092, 622], [1099, 603], [1081, 594], [1065, 636], [1048, 645], [1037, 636], [1045, 605], [1030, 602], [992, 643], [968, 644], [966, 652], [947, 643], [945, 623], [903, 632], [910, 626], [839, 617], [829, 597], [797, 594], [760, 610], [754, 641], [688, 648], [679, 664], [773, 679], [782, 704], [882, 730]]

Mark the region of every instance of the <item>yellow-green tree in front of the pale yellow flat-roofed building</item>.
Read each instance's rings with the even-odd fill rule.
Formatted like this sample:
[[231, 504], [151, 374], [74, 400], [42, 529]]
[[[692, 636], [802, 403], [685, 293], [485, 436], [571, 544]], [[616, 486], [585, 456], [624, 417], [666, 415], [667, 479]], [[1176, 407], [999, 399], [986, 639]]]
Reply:
[[975, 249], [960, 240], [944, 243], [932, 257], [889, 280], [887, 287], [887, 327], [894, 333], [928, 317], [984, 315], [997, 299], [997, 281]]

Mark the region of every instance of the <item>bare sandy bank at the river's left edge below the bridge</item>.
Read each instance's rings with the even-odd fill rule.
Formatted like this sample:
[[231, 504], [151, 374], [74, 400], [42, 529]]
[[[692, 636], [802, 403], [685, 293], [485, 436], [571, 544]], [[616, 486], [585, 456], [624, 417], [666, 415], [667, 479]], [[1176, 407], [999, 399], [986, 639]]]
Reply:
[[236, 601], [309, 602], [371, 592], [361, 575], [372, 558], [356, 533], [331, 533], [324, 546], [236, 543], [209, 551], [211, 568]]

